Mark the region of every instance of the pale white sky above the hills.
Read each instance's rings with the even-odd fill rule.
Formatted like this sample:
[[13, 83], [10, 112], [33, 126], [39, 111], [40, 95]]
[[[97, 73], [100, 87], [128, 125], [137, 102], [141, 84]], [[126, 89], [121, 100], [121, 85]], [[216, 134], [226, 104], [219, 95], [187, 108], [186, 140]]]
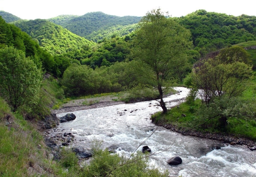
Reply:
[[0, 10], [27, 20], [95, 11], [119, 17], [142, 17], [159, 7], [164, 12], [169, 11], [172, 17], [185, 16], [199, 9], [234, 16], [256, 16], [256, 0], [0, 0]]

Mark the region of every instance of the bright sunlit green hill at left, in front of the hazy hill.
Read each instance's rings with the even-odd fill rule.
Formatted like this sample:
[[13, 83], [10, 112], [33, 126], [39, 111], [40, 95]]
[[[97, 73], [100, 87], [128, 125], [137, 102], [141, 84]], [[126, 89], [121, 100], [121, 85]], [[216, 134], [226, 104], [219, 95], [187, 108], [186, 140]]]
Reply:
[[14, 24], [33, 39], [36, 39], [42, 48], [52, 54], [62, 54], [73, 49], [87, 48], [93, 44], [93, 42], [47, 20], [19, 20]]

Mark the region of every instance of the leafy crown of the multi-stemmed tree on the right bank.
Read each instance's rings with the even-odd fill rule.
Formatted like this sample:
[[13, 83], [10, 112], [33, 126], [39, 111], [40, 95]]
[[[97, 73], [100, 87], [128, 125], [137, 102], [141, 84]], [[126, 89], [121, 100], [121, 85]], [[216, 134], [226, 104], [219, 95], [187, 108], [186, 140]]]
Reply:
[[247, 58], [246, 51], [235, 46], [221, 50], [218, 56], [200, 60], [193, 69], [192, 82], [194, 88], [200, 89], [202, 101], [209, 104], [222, 96], [241, 95], [252, 76], [251, 67], [244, 63]]

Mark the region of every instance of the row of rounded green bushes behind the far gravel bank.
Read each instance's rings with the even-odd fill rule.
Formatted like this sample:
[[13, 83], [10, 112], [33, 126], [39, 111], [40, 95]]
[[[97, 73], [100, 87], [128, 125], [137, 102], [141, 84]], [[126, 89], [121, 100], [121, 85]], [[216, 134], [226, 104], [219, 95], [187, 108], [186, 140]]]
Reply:
[[73, 64], [64, 72], [61, 84], [67, 96], [119, 92], [138, 84], [140, 73], [134, 71], [137, 62], [116, 62], [110, 67], [93, 70]]

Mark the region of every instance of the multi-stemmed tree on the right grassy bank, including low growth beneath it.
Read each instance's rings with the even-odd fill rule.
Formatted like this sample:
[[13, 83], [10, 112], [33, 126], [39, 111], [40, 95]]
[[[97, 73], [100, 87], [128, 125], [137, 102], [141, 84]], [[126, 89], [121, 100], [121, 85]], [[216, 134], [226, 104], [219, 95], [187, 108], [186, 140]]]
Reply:
[[238, 57], [232, 52], [235, 49], [230, 48], [231, 52], [225, 49], [217, 56], [201, 59], [193, 68], [194, 89], [198, 89], [203, 102], [198, 114], [207, 120], [202, 126], [218, 118], [218, 128], [226, 129], [228, 118], [238, 117], [237, 108], [241, 102], [238, 98], [247, 88], [253, 71], [243, 62], [247, 61], [247, 55]]

